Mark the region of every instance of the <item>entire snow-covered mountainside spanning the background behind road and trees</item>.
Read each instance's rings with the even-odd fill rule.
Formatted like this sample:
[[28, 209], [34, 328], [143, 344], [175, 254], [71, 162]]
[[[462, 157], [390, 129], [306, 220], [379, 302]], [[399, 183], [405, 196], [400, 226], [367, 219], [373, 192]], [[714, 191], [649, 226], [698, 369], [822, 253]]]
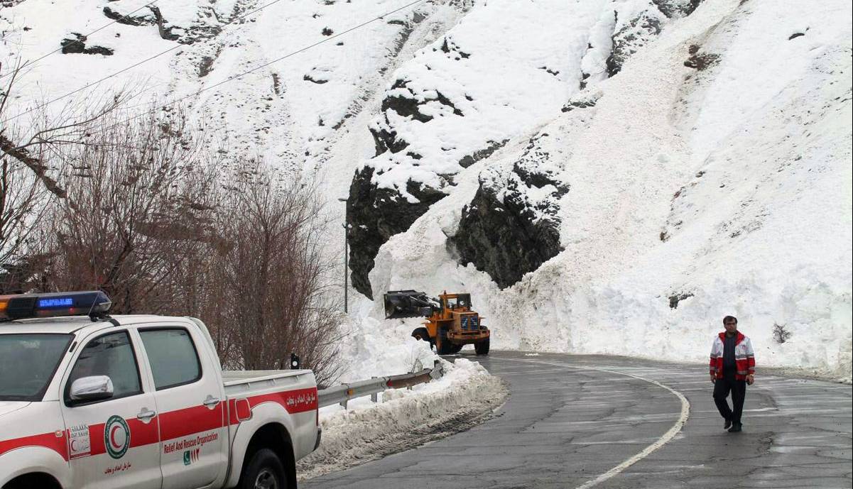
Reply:
[[[145, 3], [3, 2], [4, 71]], [[470, 291], [496, 347], [672, 360], [734, 314], [759, 365], [850, 377], [849, 4], [409, 3], [140, 9], [28, 67], [15, 110], [141, 63], [67, 100], [188, 96], [229, 151], [316, 175], [365, 296]]]

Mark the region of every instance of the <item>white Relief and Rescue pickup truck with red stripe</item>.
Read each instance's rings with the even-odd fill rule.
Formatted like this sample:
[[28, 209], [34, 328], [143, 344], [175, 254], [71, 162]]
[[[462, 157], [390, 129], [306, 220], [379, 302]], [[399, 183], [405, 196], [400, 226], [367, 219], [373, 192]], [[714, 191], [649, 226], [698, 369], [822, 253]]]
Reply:
[[222, 371], [200, 320], [108, 308], [0, 296], [0, 488], [296, 487], [311, 371]]

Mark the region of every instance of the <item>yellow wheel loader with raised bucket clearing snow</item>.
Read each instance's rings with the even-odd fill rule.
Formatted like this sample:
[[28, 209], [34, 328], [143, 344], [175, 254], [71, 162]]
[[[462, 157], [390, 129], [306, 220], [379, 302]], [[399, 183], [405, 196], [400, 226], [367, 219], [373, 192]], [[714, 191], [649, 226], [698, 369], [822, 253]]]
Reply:
[[423, 316], [427, 321], [412, 336], [435, 345], [440, 355], [456, 354], [464, 345], [474, 345], [479, 355], [489, 354], [489, 328], [471, 308], [471, 294], [444, 294], [438, 299], [419, 291], [387, 291], [386, 319]]

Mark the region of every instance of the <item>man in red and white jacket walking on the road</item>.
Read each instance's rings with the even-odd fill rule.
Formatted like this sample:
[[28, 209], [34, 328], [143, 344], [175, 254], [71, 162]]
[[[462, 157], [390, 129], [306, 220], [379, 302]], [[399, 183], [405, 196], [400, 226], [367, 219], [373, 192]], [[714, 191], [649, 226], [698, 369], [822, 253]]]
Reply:
[[[711, 382], [714, 383], [714, 403], [726, 420], [723, 429], [729, 433], [740, 431], [740, 415], [744, 409], [746, 385], [755, 382], [755, 354], [749, 338], [738, 331], [738, 319], [722, 319], [723, 331], [711, 346]], [[728, 393], [732, 393], [732, 407], [728, 407]]]

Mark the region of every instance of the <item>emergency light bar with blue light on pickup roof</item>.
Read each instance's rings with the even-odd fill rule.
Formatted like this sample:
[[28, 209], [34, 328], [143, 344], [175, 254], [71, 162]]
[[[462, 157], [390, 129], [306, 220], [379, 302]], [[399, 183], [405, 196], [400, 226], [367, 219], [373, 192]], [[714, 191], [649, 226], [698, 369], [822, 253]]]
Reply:
[[0, 320], [107, 314], [113, 306], [102, 291], [51, 292], [0, 296]]

